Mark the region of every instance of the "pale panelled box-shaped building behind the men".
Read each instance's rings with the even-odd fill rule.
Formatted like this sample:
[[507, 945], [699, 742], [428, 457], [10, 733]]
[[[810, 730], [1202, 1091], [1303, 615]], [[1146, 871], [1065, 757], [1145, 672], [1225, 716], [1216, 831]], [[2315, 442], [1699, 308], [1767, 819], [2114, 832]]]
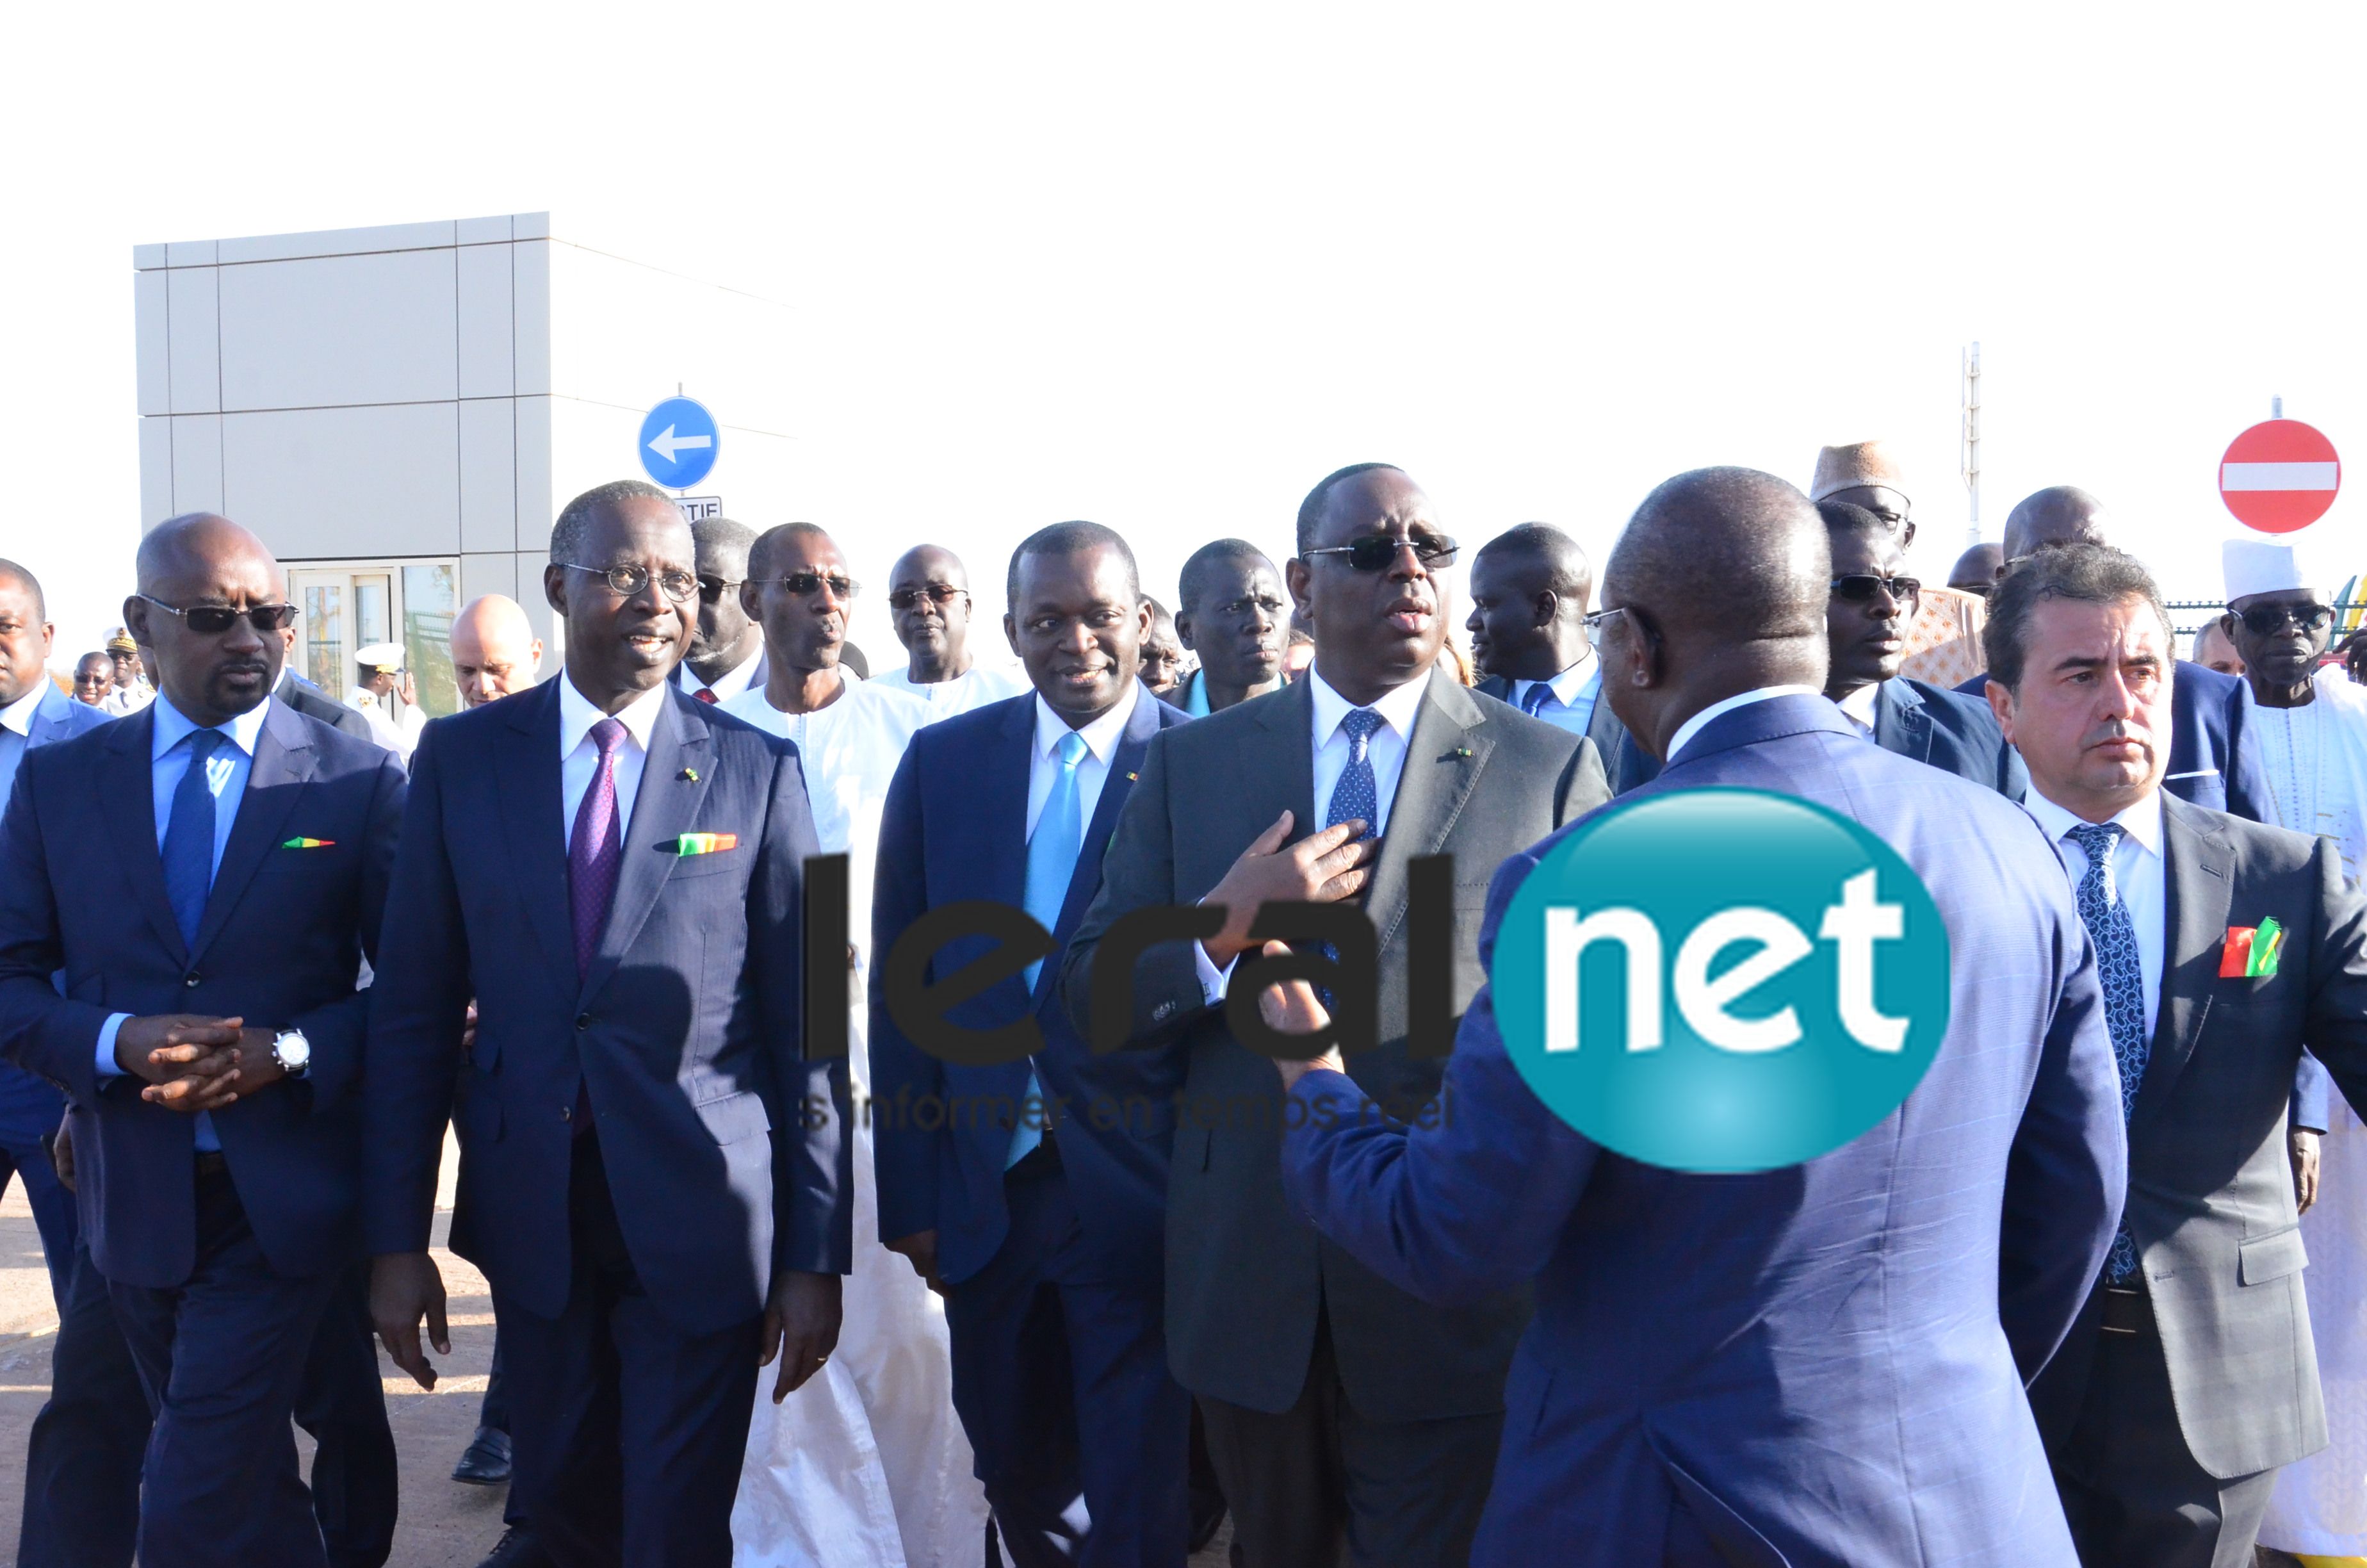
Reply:
[[788, 310], [552, 232], [547, 213], [133, 249], [140, 512], [253, 528], [303, 611], [296, 668], [329, 692], [402, 642], [428, 713], [457, 706], [469, 599], [542, 602], [570, 495], [644, 478], [641, 415], [720, 422], [698, 486], [788, 521]]

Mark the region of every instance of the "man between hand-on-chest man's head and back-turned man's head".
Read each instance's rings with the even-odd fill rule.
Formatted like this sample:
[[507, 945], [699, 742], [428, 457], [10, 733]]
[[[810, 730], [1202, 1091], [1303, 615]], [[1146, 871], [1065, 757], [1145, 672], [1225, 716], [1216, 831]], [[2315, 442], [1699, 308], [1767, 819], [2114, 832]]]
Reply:
[[1479, 692], [1591, 739], [1619, 791], [1647, 775], [1624, 777], [1626, 727], [1602, 701], [1602, 661], [1586, 637], [1593, 592], [1595, 568], [1574, 538], [1520, 523], [1472, 557], [1472, 613], [1463, 628], [1472, 635]]

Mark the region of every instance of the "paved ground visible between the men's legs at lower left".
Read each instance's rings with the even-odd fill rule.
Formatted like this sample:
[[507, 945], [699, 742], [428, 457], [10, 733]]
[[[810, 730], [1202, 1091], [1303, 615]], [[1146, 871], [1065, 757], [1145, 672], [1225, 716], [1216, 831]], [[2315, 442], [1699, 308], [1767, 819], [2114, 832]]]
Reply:
[[[450, 1151], [445, 1191], [450, 1196]], [[443, 1248], [447, 1213], [436, 1217], [436, 1262], [450, 1293], [452, 1357], [438, 1357], [443, 1376], [424, 1393], [379, 1352], [386, 1379], [386, 1414], [402, 1454], [402, 1523], [388, 1568], [476, 1568], [502, 1537], [502, 1487], [452, 1485], [452, 1461], [476, 1431], [476, 1407], [492, 1360], [492, 1300], [485, 1277]], [[50, 1343], [57, 1310], [50, 1272], [40, 1260], [40, 1236], [24, 1189], [9, 1184], [0, 1199], [0, 1563], [17, 1563], [17, 1518], [24, 1509], [24, 1435], [50, 1395]], [[303, 1433], [296, 1435], [303, 1442]], [[1224, 1537], [1193, 1559], [1221, 1568]], [[852, 1568], [852, 1566], [850, 1566]]]

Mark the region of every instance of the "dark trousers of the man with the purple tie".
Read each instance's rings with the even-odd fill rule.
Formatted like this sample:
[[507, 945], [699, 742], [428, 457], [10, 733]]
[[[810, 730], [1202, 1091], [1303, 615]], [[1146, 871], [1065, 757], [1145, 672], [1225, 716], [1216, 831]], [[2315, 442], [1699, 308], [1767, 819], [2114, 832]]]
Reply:
[[757, 1326], [686, 1334], [641, 1289], [599, 1135], [568, 1177], [568, 1300], [537, 1317], [495, 1293], [511, 1497], [559, 1568], [729, 1568]]

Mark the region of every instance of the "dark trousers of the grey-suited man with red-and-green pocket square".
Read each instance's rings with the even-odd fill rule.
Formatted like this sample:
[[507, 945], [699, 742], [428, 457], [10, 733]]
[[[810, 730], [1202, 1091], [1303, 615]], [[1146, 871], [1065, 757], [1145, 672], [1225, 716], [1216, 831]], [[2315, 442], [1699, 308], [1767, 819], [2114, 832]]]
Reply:
[[2220, 1480], [2194, 1464], [2161, 1336], [2100, 1334], [2088, 1397], [2050, 1454], [2085, 1568], [2251, 1568], [2277, 1471]]

